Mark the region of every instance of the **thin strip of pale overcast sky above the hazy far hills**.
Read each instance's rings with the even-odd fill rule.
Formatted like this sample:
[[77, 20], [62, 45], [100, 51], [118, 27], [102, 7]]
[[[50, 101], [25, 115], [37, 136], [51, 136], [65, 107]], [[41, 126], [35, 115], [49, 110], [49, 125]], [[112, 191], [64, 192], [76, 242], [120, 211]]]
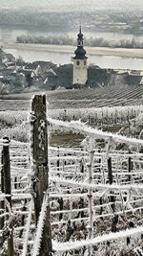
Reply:
[[0, 0], [1, 8], [43, 7], [46, 10], [141, 9], [143, 0]]

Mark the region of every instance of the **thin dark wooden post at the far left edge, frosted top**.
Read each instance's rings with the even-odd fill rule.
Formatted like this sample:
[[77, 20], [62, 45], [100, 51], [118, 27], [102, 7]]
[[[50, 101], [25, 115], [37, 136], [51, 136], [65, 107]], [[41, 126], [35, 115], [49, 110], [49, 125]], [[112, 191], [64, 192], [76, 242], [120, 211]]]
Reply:
[[[3, 172], [4, 172], [4, 193], [9, 195], [6, 197], [11, 208], [11, 182], [10, 182], [10, 148], [9, 148], [9, 138], [3, 138]], [[8, 211], [8, 210], [7, 210]], [[8, 237], [8, 256], [13, 256], [13, 231], [12, 223], [10, 223], [10, 234]]]

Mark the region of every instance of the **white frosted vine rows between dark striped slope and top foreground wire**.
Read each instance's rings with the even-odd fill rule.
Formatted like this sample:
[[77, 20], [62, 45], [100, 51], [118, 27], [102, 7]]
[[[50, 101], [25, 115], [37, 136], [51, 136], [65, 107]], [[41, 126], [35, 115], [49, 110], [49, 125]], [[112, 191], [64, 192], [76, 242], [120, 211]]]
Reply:
[[[78, 121], [95, 128], [112, 130], [138, 137], [142, 131], [143, 105], [99, 108], [49, 109], [49, 117], [61, 121]], [[0, 137], [10, 136], [18, 141], [29, 141], [30, 111], [0, 111]]]

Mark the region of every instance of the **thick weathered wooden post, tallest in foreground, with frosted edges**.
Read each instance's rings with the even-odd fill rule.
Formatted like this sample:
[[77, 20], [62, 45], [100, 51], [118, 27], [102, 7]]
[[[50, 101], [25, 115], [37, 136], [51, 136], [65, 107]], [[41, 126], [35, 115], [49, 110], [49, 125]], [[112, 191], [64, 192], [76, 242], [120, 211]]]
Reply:
[[[31, 103], [32, 114], [32, 159], [34, 168], [33, 192], [35, 221], [37, 223], [45, 193], [49, 189], [48, 166], [48, 125], [46, 95], [35, 95]], [[44, 223], [40, 256], [51, 255], [51, 221], [50, 204], [47, 206], [46, 220]]]

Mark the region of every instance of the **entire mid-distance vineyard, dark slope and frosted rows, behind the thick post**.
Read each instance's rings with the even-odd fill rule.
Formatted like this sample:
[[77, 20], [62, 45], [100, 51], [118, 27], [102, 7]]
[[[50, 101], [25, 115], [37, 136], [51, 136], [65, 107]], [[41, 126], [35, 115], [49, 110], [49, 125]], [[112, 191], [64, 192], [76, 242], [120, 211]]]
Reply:
[[[48, 91], [48, 114], [54, 119], [81, 120], [92, 127], [112, 132], [118, 132], [122, 128], [121, 134], [138, 136], [142, 129], [142, 124], [138, 124], [138, 116], [143, 111], [142, 95], [143, 85]], [[25, 141], [29, 140], [26, 122], [31, 111], [30, 99], [31, 93], [25, 93], [6, 96], [0, 101], [0, 125], [2, 128], [13, 128], [12, 138], [17, 139], [18, 129], [21, 129], [26, 134]], [[22, 128], [17, 128], [20, 124]], [[1, 137], [9, 135], [9, 130], [0, 133]], [[21, 137], [18, 135], [18, 140], [21, 141]]]

